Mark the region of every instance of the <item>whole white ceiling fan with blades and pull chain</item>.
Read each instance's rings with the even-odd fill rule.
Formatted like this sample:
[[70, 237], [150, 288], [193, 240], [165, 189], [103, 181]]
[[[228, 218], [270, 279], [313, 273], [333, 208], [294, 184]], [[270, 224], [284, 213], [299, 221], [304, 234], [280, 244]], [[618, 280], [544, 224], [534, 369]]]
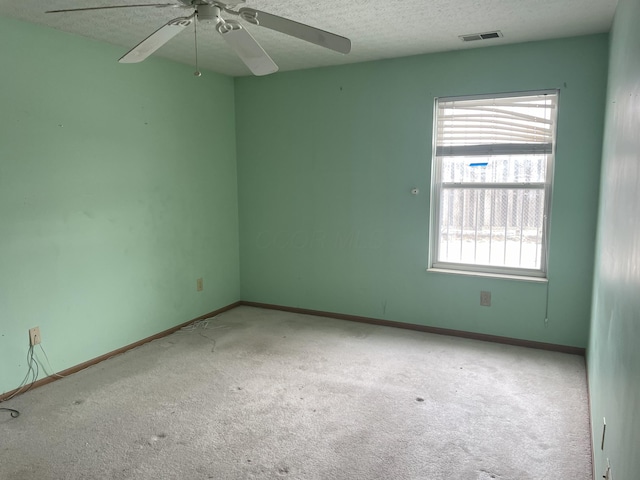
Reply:
[[[186, 27], [198, 23], [212, 24], [216, 31], [224, 38], [227, 44], [236, 52], [238, 57], [249, 67], [254, 75], [268, 75], [278, 71], [278, 66], [269, 57], [267, 52], [253, 38], [242, 23], [235, 19], [223, 18], [223, 13], [227, 16], [238, 17], [239, 19], [261, 27], [269, 28], [292, 37], [314, 43], [321, 47], [329, 48], [339, 53], [349, 53], [351, 51], [351, 40], [334, 33], [320, 30], [303, 23], [295, 22], [287, 18], [272, 15], [270, 13], [255, 10], [253, 8], [242, 7], [238, 10], [234, 8], [243, 4], [245, 0], [178, 0], [179, 3], [147, 3], [137, 5], [110, 5], [105, 7], [71, 8], [65, 10], [49, 10], [46, 13], [67, 13], [82, 12], [89, 10], [108, 10], [115, 8], [185, 8], [193, 9], [189, 16], [174, 18], [145, 38], [138, 45], [129, 50], [120, 60], [120, 63], [137, 63], [143, 61], [162, 45], [167, 43]], [[197, 62], [197, 43], [196, 43]], [[197, 71], [196, 75], [200, 75]]]

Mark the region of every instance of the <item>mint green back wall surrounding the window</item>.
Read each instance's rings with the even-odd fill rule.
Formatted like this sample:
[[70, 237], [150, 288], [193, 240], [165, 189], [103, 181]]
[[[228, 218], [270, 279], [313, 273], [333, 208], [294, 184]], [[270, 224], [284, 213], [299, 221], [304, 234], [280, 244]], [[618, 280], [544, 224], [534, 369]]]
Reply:
[[[585, 347], [607, 39], [236, 79], [242, 299]], [[561, 93], [545, 327], [545, 284], [425, 267], [434, 97], [550, 88]]]

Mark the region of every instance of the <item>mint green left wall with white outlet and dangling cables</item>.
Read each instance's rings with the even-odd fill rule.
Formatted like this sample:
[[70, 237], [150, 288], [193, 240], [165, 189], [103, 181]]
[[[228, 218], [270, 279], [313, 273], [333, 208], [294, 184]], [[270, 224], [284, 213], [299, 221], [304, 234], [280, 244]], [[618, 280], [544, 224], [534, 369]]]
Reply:
[[237, 301], [233, 79], [2, 18], [0, 45], [0, 393], [29, 327], [59, 371]]

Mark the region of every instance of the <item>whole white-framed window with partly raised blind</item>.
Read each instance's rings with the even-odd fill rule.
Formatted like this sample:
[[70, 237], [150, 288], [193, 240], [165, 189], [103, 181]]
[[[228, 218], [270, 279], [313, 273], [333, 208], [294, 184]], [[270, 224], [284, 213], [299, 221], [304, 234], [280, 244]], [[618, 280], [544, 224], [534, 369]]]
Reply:
[[557, 100], [436, 99], [432, 268], [546, 276]]

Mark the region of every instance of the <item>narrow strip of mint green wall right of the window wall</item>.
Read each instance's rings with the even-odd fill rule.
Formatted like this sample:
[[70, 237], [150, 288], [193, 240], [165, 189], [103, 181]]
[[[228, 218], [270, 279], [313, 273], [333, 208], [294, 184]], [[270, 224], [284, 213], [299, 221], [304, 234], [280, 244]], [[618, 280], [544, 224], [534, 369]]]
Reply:
[[[640, 476], [640, 0], [611, 32], [589, 386], [595, 478]], [[607, 419], [601, 450], [603, 417]]]

